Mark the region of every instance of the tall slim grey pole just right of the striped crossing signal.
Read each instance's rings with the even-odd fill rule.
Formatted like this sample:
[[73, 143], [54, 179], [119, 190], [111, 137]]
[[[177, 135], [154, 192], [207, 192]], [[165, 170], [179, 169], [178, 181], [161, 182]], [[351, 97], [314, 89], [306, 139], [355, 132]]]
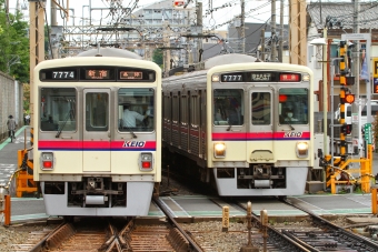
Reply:
[[[354, 0], [355, 1], [355, 6], [354, 6], [354, 33], [359, 33], [359, 10], [360, 10], [360, 7], [359, 7], [359, 0]], [[359, 113], [359, 108], [364, 104], [362, 101], [359, 99], [359, 65], [360, 65], [360, 62], [359, 62], [359, 40], [355, 40], [354, 41], [355, 43], [355, 48], [352, 49], [352, 56], [351, 56], [351, 59], [354, 59], [354, 63], [352, 63], [352, 75], [356, 77], [355, 81], [355, 85], [352, 87], [352, 93], [355, 93], [356, 98], [357, 98], [357, 103], [352, 103], [351, 104], [351, 113]], [[358, 114], [358, 118], [360, 118], [361, 114]], [[354, 127], [352, 128], [352, 131], [351, 131], [351, 137], [352, 139], [358, 139], [358, 149], [360, 149], [360, 140], [361, 140], [361, 127], [360, 125], [360, 121], [361, 120], [358, 120], [357, 122], [357, 127]], [[355, 151], [354, 151], [355, 152]]]

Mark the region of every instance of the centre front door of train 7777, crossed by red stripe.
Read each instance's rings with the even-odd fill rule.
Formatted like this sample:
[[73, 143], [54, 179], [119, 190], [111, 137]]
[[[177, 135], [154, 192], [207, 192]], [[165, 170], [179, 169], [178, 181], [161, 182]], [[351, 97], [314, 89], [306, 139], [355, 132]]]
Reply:
[[272, 161], [273, 159], [273, 104], [272, 91], [253, 88], [249, 90], [248, 107], [249, 133], [247, 157], [251, 160]]

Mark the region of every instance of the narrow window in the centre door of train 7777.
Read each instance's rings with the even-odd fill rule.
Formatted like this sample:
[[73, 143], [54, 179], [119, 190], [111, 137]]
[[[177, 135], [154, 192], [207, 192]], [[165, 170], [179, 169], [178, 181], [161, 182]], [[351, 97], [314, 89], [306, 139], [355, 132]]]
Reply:
[[251, 93], [251, 115], [253, 125], [269, 125], [271, 123], [271, 95], [268, 92]]

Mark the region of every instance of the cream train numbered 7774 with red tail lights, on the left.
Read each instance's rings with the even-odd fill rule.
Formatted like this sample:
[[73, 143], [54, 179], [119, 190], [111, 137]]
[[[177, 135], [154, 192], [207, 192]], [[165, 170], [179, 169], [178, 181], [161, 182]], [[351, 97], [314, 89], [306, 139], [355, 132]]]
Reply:
[[[161, 181], [160, 68], [100, 49], [43, 61], [33, 81], [33, 179], [47, 214], [147, 215]], [[133, 125], [126, 105], [141, 114]]]

